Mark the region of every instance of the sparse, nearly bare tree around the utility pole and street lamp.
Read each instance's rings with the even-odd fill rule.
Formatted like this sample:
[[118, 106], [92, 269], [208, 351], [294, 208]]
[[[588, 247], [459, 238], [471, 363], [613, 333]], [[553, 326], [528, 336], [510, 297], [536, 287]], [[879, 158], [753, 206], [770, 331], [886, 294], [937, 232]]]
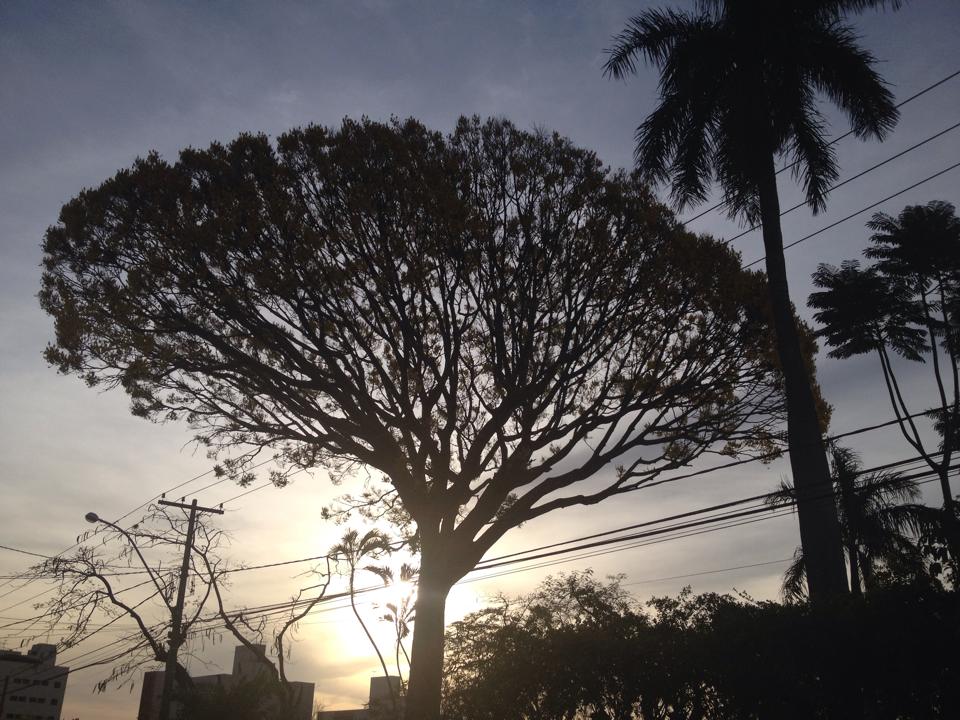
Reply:
[[[57, 583], [53, 599], [41, 607], [42, 613], [34, 626], [38, 636], [49, 636], [65, 625], [68, 630], [60, 636], [60, 648], [73, 647], [104, 626], [97, 623], [109, 625], [121, 619], [134, 622], [136, 629], [128, 638], [130, 647], [119, 662], [116, 657], [110, 658], [113, 667], [98, 683], [99, 691], [115, 683], [132, 684], [134, 675], [145, 665], [166, 664], [187, 525], [183, 513], [151, 505], [147, 514], [131, 527], [104, 523], [102, 531], [81, 536], [82, 544], [72, 555], [55, 556], [31, 569], [33, 577], [52, 577]], [[91, 543], [92, 540], [97, 542]], [[262, 646], [251, 639], [260, 639], [263, 627], [252, 624], [243, 610], [230, 610], [225, 606], [224, 590], [233, 571], [221, 558], [225, 540], [222, 530], [208, 520], [197, 520], [192, 536], [182, 636], [218, 632], [211, 626], [222, 623], [234, 639], [260, 660], [266, 671], [257, 680], [256, 692], [273, 698], [272, 703], [268, 703], [271, 712], [276, 711], [280, 716], [286, 712], [289, 716], [288, 711], [296, 707], [301, 698], [300, 688], [293, 686], [285, 673], [284, 661], [289, 653], [285, 640], [289, 631], [323, 600], [333, 576], [330, 561], [326, 561], [325, 581], [320, 592], [308, 602], [299, 602], [300, 598], [296, 598], [291, 604], [290, 616], [274, 632], [277, 655], [274, 663]], [[128, 593], [138, 588], [143, 588], [141, 594], [147, 593], [146, 597], [139, 601], [130, 599]], [[188, 706], [199, 708], [214, 702], [196, 697], [201, 691], [179, 660], [176, 668], [177, 695]], [[241, 702], [239, 698], [250, 692], [249, 688], [241, 688], [230, 697]], [[259, 717], [259, 709], [249, 708], [249, 712], [253, 713], [251, 717]]]

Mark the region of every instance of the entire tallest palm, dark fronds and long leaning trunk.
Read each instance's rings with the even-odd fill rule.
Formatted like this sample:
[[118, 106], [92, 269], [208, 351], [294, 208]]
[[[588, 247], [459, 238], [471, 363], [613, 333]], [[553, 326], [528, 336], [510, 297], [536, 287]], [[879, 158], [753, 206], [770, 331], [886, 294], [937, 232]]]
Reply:
[[[731, 217], [762, 224], [777, 352], [787, 401], [790, 463], [811, 596], [846, 592], [833, 504], [818, 500], [830, 470], [815, 395], [787, 288], [776, 159], [786, 156], [814, 212], [838, 176], [817, 110], [826, 95], [861, 138], [897, 121], [873, 56], [843, 23], [883, 0], [699, 0], [694, 12], [646, 10], [616, 36], [608, 75], [660, 71], [660, 101], [637, 128], [638, 170], [669, 183], [678, 210], [707, 199], [716, 179]], [[891, 5], [898, 3], [892, 2]]]

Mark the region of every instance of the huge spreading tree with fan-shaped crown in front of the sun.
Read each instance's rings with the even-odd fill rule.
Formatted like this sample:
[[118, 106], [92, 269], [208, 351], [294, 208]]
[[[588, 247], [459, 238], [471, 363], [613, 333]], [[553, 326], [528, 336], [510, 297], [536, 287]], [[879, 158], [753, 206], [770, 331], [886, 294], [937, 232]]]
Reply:
[[268, 447], [382, 473], [420, 550], [418, 720], [447, 593], [508, 530], [782, 421], [763, 276], [637, 177], [506, 121], [150, 155], [64, 206], [44, 251], [62, 372], [241, 474]]

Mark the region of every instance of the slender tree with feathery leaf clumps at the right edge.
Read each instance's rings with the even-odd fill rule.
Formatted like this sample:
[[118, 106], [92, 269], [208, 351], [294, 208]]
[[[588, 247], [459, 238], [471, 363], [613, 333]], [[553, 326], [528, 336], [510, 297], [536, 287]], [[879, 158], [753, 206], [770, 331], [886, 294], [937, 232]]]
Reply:
[[[907, 206], [897, 217], [877, 213], [867, 227], [873, 235], [864, 254], [876, 265], [821, 265], [813, 276], [821, 290], [810, 295], [809, 305], [817, 310], [831, 357], [877, 354], [903, 436], [940, 479], [956, 561], [960, 537], [950, 468], [960, 440], [960, 219], [952, 205], [934, 201]], [[928, 415], [940, 437], [939, 459], [911, 413], [894, 356], [929, 361], [939, 403]]]

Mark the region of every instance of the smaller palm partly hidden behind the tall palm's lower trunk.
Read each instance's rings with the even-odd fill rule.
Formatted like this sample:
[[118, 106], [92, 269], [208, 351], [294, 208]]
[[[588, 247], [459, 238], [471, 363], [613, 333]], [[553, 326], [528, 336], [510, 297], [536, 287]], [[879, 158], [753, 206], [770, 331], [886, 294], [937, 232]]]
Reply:
[[[852, 450], [834, 447], [834, 498], [840, 518], [844, 554], [854, 595], [872, 590], [879, 565], [909, 567], [919, 572], [922, 561], [915, 537], [934, 522], [935, 513], [917, 504], [920, 491], [914, 480], [898, 473], [865, 473]], [[767, 503], [779, 507], [793, 501], [796, 492], [784, 483]], [[806, 560], [797, 548], [784, 573], [783, 595], [799, 601], [806, 597]]]

